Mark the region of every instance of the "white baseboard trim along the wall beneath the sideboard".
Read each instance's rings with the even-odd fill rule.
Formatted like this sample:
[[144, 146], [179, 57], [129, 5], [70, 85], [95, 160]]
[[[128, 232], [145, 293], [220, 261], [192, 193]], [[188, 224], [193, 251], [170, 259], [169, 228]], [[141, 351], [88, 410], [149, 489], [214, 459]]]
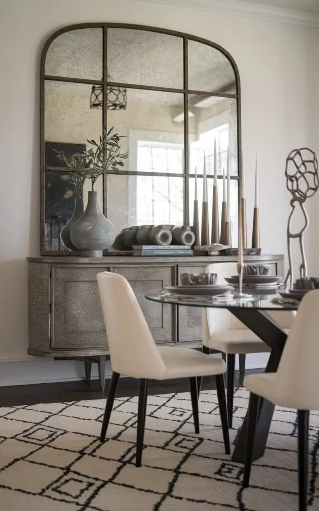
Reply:
[[[247, 355], [246, 368], [259, 369], [267, 364], [268, 354]], [[238, 359], [236, 357], [236, 369]], [[105, 377], [111, 376], [111, 364], [106, 363]], [[92, 380], [97, 379], [97, 364], [92, 364]], [[36, 385], [38, 383], [58, 383], [84, 380], [84, 362], [76, 360], [53, 360], [51, 358], [30, 357], [19, 360], [0, 361], [0, 386]]]

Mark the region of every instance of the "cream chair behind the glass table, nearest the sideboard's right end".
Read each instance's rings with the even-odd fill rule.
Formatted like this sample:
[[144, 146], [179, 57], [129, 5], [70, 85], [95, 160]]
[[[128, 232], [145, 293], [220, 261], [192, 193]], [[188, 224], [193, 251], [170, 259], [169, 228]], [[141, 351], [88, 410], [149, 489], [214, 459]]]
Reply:
[[[218, 283], [225, 284], [225, 277], [237, 275], [236, 263], [215, 263], [206, 272], [217, 273]], [[271, 311], [269, 314], [282, 328], [289, 332], [295, 312]], [[222, 352], [227, 356], [227, 412], [228, 423], [233, 425], [235, 355], [266, 353], [269, 347], [226, 309], [203, 309], [203, 352]], [[200, 383], [198, 384], [200, 387]]]

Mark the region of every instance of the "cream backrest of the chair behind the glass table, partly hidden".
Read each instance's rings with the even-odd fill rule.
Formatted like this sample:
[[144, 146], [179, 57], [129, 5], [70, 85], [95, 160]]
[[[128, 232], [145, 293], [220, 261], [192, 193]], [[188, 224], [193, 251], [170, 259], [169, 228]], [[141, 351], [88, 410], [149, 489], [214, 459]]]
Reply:
[[[213, 263], [206, 267], [207, 273], [217, 273], [218, 284], [227, 284], [225, 277], [237, 275], [237, 263]], [[285, 329], [290, 329], [295, 311], [268, 311], [268, 314]], [[226, 309], [203, 309], [203, 340], [219, 330], [243, 330], [247, 327]]]

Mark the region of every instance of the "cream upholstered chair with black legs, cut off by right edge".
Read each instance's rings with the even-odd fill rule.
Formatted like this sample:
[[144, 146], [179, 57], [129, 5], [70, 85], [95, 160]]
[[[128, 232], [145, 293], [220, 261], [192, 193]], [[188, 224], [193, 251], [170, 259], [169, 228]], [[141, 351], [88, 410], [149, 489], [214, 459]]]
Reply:
[[249, 375], [248, 438], [243, 485], [249, 486], [260, 397], [298, 410], [299, 511], [307, 509], [309, 410], [319, 410], [319, 290], [310, 291], [299, 306], [277, 373]]

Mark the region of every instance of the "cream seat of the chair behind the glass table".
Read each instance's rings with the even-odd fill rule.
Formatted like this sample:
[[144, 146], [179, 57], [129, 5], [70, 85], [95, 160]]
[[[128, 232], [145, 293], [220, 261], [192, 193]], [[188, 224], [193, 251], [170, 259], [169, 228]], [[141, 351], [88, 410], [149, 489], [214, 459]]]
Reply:
[[[289, 329], [284, 329], [288, 334]], [[266, 353], [271, 349], [251, 330], [220, 330], [214, 332], [208, 342], [207, 347], [230, 354], [244, 353]]]

